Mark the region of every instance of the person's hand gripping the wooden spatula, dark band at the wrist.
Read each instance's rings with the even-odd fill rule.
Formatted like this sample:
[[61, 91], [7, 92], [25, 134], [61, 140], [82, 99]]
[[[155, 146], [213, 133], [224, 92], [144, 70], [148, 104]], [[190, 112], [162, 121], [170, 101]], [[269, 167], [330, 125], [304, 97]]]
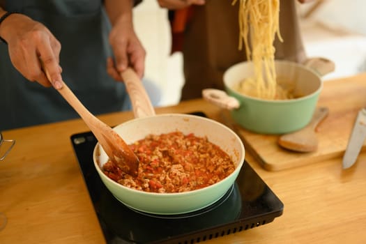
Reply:
[[[10, 61], [26, 79], [46, 87], [62, 87], [59, 66], [61, 44], [49, 29], [26, 15], [14, 13], [1, 23], [0, 30], [1, 37], [8, 43]], [[43, 72], [41, 62], [51, 81]]]

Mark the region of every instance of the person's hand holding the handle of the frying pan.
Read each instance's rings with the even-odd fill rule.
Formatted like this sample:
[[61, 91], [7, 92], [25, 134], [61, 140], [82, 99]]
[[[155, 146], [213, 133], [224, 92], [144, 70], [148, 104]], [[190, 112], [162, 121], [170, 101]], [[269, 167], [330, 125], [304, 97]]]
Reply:
[[114, 60], [107, 59], [107, 73], [117, 81], [122, 81], [119, 73], [129, 66], [142, 78], [145, 69], [146, 52], [133, 29], [129, 17], [120, 17], [109, 33], [109, 43], [114, 52]]

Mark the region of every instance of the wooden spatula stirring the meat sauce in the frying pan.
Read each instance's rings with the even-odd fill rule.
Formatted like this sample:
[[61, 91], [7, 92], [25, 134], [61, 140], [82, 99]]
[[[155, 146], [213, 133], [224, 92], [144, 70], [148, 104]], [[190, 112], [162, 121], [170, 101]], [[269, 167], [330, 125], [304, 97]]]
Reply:
[[[47, 78], [50, 80], [49, 73], [43, 67]], [[139, 160], [135, 153], [132, 152], [128, 144], [110, 128], [107, 124], [100, 121], [96, 116], [91, 114], [82, 102], [77, 99], [73, 91], [71, 91], [65, 82], [61, 81], [63, 86], [57, 89], [61, 96], [75, 109], [82, 117], [86, 125], [98, 139], [98, 142], [107, 153], [110, 160], [119, 165], [121, 170], [132, 176], [137, 176], [139, 169]]]

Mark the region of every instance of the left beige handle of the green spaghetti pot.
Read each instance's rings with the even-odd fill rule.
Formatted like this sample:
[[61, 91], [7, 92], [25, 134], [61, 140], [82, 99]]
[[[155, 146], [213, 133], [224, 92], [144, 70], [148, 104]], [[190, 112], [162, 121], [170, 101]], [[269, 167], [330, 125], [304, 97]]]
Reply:
[[236, 98], [228, 96], [227, 93], [219, 89], [204, 89], [202, 90], [202, 97], [223, 109], [233, 110], [240, 107], [240, 102]]

